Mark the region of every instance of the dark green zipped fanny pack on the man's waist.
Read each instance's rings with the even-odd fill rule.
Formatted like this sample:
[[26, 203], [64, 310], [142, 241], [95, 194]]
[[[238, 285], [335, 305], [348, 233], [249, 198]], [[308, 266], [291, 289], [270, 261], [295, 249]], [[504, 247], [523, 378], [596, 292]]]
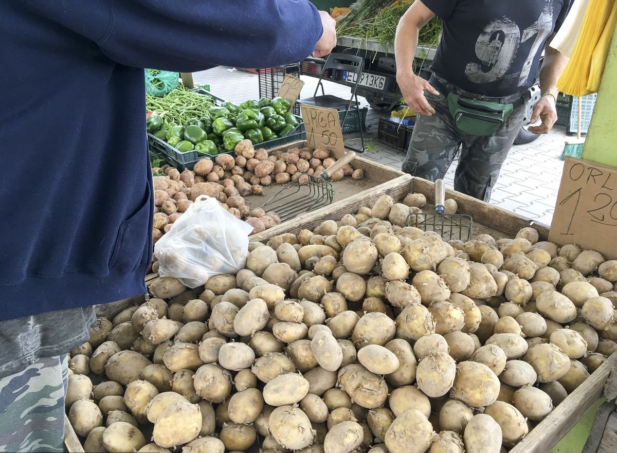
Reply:
[[448, 94], [448, 107], [458, 130], [475, 136], [493, 135], [514, 110], [514, 104], [478, 101], [455, 93]]

